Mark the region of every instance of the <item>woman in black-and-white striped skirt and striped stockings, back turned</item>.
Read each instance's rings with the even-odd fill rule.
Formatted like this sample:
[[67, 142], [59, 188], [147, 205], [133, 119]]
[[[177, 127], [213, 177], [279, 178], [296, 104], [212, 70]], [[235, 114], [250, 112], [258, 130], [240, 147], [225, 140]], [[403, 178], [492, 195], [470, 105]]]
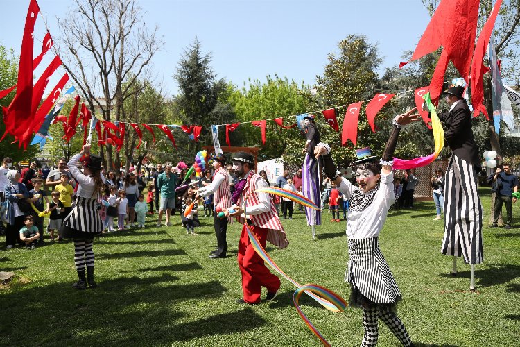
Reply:
[[[101, 174], [101, 158], [89, 154], [90, 144], [83, 146], [83, 151], [74, 155], [67, 163], [73, 178], [78, 181], [76, 205], [63, 219], [62, 234], [74, 240], [74, 264], [78, 272], [78, 282], [72, 287], [76, 289], [96, 288], [94, 282], [94, 236], [101, 234], [103, 223], [97, 210], [96, 202], [103, 192], [105, 178]], [[83, 173], [76, 167], [78, 162], [83, 166]], [[87, 278], [85, 280], [85, 266]]]

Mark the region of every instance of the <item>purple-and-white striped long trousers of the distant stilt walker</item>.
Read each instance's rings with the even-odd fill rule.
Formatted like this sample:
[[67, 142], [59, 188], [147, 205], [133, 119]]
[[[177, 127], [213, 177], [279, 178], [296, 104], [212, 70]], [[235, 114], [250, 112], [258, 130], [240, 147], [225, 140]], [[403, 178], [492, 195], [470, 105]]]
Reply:
[[[318, 160], [305, 155], [302, 175], [302, 192], [306, 198], [322, 208], [320, 198], [320, 178], [318, 177]], [[322, 223], [321, 211], [305, 208], [308, 226], [320, 226]]]

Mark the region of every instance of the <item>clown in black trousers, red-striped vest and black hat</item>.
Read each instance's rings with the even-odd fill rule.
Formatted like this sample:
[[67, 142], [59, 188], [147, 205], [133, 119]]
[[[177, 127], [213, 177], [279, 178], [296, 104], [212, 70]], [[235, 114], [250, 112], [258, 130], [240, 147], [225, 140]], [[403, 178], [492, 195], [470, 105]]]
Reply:
[[[226, 170], [226, 156], [222, 153], [217, 153], [211, 156], [213, 159], [213, 167], [215, 168], [215, 172], [213, 174], [213, 180], [210, 185], [202, 187], [198, 189], [196, 200], [199, 197], [205, 198], [211, 194], [215, 194], [214, 203], [215, 210], [225, 210], [232, 205], [231, 201], [231, 187], [229, 186], [229, 179], [227, 178], [227, 170]], [[227, 241], [226, 241], [226, 232], [227, 232], [227, 224], [232, 223], [232, 217], [227, 217], [220, 219], [218, 217], [218, 213], [214, 213], [214, 226], [215, 226], [215, 235], [217, 239], [217, 248], [216, 250], [209, 253], [209, 257], [211, 259], [217, 258], [225, 258], [227, 252]]]

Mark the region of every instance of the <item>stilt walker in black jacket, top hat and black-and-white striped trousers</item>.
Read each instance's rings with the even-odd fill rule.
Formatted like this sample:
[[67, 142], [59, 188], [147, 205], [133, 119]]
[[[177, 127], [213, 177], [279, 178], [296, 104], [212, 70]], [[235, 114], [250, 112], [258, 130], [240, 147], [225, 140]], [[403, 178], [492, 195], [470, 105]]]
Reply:
[[469, 288], [475, 289], [475, 264], [484, 261], [482, 243], [482, 204], [477, 189], [480, 158], [473, 130], [471, 112], [463, 98], [464, 87], [448, 88], [449, 112], [439, 115], [444, 122], [444, 139], [452, 155], [444, 186], [444, 239], [441, 252], [453, 255], [453, 276], [457, 274], [457, 257], [471, 264]]

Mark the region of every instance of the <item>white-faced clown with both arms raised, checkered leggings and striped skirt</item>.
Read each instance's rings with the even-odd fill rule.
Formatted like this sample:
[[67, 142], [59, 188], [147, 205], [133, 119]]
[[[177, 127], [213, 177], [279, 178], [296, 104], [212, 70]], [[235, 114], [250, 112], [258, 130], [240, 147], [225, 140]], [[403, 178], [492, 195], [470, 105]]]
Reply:
[[[315, 155], [323, 156], [324, 170], [338, 190], [350, 201], [347, 215], [349, 262], [345, 281], [350, 283], [349, 305], [363, 309], [365, 335], [361, 346], [376, 346], [381, 319], [404, 346], [413, 346], [404, 324], [397, 316], [396, 304], [401, 300], [390, 267], [379, 249], [379, 233], [388, 210], [395, 202], [392, 160], [401, 126], [419, 120], [416, 109], [398, 115], [393, 120], [390, 138], [381, 162], [375, 156], [354, 162], [357, 166], [355, 187], [336, 171], [330, 147], [320, 143]], [[380, 182], [378, 187], [378, 182]]]

